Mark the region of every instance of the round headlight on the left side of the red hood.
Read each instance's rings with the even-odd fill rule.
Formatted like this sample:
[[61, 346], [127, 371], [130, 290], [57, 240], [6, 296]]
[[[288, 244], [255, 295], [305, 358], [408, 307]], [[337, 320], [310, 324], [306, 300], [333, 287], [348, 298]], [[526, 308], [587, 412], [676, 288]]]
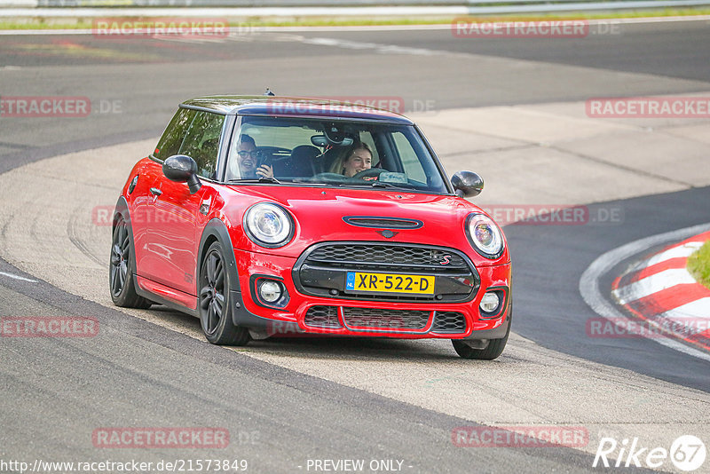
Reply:
[[259, 202], [247, 209], [244, 229], [251, 241], [270, 249], [286, 245], [294, 235], [287, 210], [272, 202]]

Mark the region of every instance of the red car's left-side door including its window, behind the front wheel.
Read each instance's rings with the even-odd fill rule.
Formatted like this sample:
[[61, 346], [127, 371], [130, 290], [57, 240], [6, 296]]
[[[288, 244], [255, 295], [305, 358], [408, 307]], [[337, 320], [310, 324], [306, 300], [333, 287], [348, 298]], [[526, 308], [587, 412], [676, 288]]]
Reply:
[[[154, 223], [149, 226], [154, 257], [151, 280], [189, 295], [196, 295], [197, 252], [207, 211], [216, 194], [217, 154], [225, 116], [196, 111], [177, 154], [197, 163], [202, 186], [195, 194], [185, 183], [170, 181], [160, 173], [154, 183]], [[204, 207], [203, 207], [204, 205]]]

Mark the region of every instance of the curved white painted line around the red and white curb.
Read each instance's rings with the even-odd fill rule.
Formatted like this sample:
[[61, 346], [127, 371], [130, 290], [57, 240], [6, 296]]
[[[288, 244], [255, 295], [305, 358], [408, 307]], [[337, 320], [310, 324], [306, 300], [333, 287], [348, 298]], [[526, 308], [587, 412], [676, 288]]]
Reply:
[[[602, 275], [608, 273], [611, 268], [617, 265], [621, 260], [643, 252], [643, 249], [648, 249], [654, 245], [660, 245], [669, 241], [680, 241], [708, 230], [710, 230], [710, 224], [693, 225], [692, 227], [686, 227], [677, 231], [651, 235], [651, 237], [629, 242], [626, 245], [609, 250], [597, 257], [596, 260], [587, 267], [587, 270], [582, 273], [580, 278], [580, 294], [582, 299], [584, 299], [584, 302], [587, 303], [594, 312], [614, 324], [619, 320], [626, 319], [626, 316], [619, 312], [616, 306], [611, 304], [611, 302], [602, 295], [602, 291], [599, 289], [599, 279]], [[698, 349], [694, 349], [676, 339], [667, 337], [651, 337], [650, 339], [675, 351], [710, 361], [710, 354], [698, 351]]]

